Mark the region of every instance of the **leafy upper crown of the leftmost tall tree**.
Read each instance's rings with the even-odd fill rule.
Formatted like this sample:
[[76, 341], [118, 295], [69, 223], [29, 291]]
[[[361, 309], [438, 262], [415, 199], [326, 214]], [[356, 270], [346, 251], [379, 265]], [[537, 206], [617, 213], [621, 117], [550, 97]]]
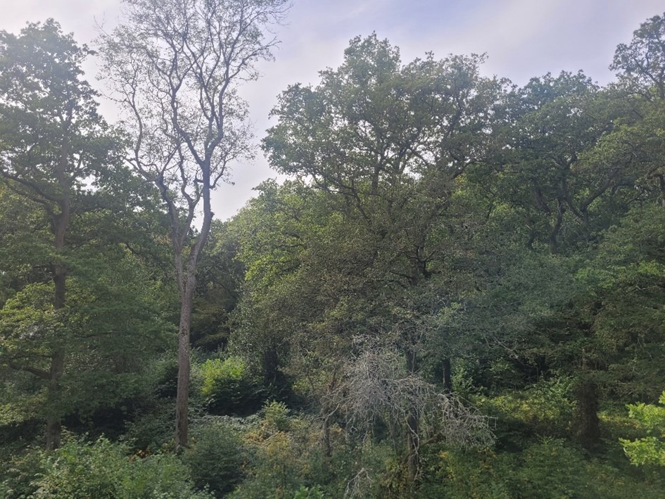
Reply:
[[0, 172], [51, 211], [114, 159], [117, 141], [81, 78], [89, 53], [52, 19], [0, 32]]

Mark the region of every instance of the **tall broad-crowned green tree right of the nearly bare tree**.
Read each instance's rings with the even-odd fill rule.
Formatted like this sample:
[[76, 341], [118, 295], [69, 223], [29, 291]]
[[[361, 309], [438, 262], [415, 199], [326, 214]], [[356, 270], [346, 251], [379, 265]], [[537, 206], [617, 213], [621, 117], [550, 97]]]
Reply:
[[[450, 293], [445, 285], [428, 292], [445, 273], [441, 233], [453, 225], [448, 210], [465, 172], [488, 160], [504, 119], [505, 82], [479, 75], [482, 56], [437, 61], [429, 53], [403, 65], [398, 49], [375, 34], [351, 40], [344, 55], [339, 68], [320, 73], [317, 87], [295, 84], [282, 93], [272, 111], [279, 123], [263, 145], [273, 168], [327, 195], [346, 228], [330, 248], [343, 241], [356, 250], [338, 255], [355, 265], [365, 303], [374, 302], [367, 322], [382, 320], [367, 329], [392, 338], [407, 372], [417, 374], [425, 323]], [[358, 303], [347, 291], [336, 289], [338, 303]], [[414, 477], [421, 433], [415, 406], [407, 419]]]

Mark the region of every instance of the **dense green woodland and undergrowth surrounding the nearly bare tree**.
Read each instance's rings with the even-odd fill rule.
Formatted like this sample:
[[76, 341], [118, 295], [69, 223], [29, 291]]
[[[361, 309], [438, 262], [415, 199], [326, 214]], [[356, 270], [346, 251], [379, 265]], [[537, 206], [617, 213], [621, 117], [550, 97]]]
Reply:
[[605, 87], [352, 39], [272, 111], [288, 178], [203, 239], [185, 163], [167, 208], [123, 163], [90, 51], [1, 32], [0, 496], [661, 497], [664, 26]]

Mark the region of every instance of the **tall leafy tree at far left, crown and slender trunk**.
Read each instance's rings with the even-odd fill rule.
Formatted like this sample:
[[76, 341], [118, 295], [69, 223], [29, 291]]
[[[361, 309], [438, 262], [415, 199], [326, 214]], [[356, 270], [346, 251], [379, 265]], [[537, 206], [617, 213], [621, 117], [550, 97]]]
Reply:
[[56, 408], [67, 355], [68, 230], [86, 209], [86, 182], [112, 165], [118, 151], [118, 140], [97, 114], [95, 91], [82, 80], [80, 66], [89, 53], [52, 19], [28, 24], [18, 36], [0, 32], [0, 175], [7, 189], [42, 210], [52, 237], [47, 272], [54, 331], [44, 353], [49, 365], [19, 367], [47, 381], [53, 408], [46, 417], [49, 449], [61, 439]]

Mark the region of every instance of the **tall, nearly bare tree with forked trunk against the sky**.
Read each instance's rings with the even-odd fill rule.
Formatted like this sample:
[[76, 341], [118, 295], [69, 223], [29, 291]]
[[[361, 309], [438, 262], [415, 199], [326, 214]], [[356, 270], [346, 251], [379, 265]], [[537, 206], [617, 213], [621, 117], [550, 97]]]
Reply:
[[129, 163], [159, 189], [170, 218], [180, 296], [176, 450], [188, 440], [189, 329], [210, 193], [230, 163], [253, 157], [237, 90], [272, 58], [278, 42], [265, 34], [288, 8], [287, 0], [125, 0], [125, 23], [100, 38], [103, 75], [132, 141]]

